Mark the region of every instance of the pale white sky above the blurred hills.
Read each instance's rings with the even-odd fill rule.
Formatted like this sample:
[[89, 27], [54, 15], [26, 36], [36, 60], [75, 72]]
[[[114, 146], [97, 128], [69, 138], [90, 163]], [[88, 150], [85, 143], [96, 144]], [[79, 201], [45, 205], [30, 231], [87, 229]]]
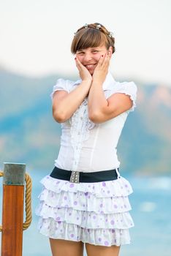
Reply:
[[113, 31], [114, 77], [171, 86], [170, 0], [1, 0], [0, 68], [77, 75], [70, 45], [94, 22]]

